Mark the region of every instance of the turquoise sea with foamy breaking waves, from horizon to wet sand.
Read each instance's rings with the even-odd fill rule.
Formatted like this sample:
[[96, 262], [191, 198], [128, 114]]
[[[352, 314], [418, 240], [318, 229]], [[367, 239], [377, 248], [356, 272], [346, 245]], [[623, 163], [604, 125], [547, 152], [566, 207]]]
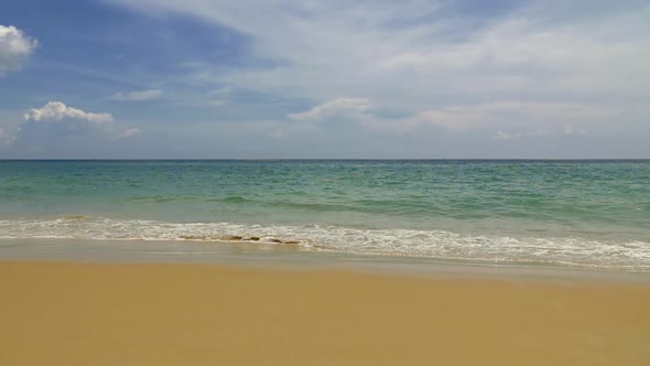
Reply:
[[650, 161], [0, 161], [0, 245], [15, 238], [644, 271]]

